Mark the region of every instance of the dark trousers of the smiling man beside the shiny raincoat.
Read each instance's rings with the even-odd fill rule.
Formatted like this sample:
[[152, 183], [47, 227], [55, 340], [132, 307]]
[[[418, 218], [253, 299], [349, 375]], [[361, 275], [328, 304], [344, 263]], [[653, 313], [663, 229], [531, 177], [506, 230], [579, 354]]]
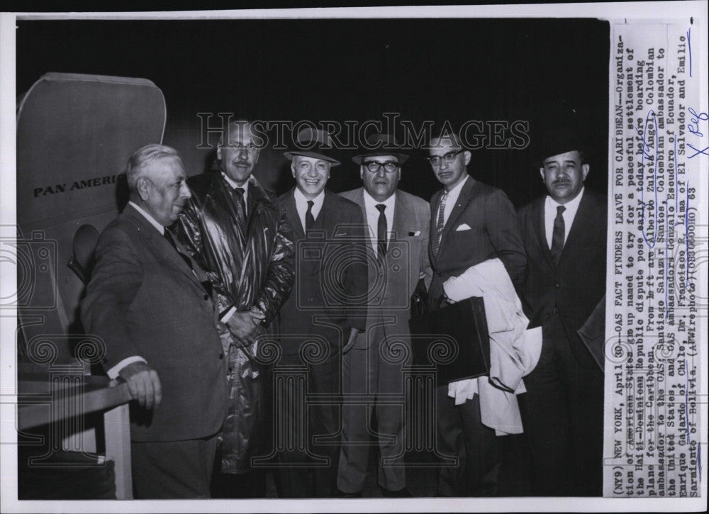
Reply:
[[[285, 442], [279, 450], [276, 476], [281, 498], [336, 496], [342, 403], [340, 356], [338, 347], [330, 347], [323, 359], [307, 364], [305, 377], [298, 374], [286, 381], [284, 416], [288, 428], [287, 433], [276, 435]], [[303, 367], [298, 355], [284, 354], [280, 364]], [[298, 398], [305, 396], [306, 403], [300, 403]]]

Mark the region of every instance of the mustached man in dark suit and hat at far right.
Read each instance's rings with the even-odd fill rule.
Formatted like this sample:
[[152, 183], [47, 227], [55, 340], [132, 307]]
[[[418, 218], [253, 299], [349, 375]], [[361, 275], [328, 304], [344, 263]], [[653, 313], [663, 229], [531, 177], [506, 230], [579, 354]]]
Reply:
[[548, 194], [519, 211], [529, 266], [525, 310], [543, 337], [522, 396], [532, 488], [542, 496], [598, 496], [603, 371], [576, 330], [605, 294], [606, 203], [584, 189], [589, 165], [572, 130], [545, 135], [540, 155]]

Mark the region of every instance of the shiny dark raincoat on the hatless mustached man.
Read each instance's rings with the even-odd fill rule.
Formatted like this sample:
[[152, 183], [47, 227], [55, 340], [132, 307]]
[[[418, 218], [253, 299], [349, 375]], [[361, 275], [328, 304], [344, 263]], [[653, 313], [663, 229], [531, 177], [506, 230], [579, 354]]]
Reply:
[[[192, 197], [177, 221], [177, 234], [213, 282], [220, 318], [232, 306], [237, 311], [258, 306], [266, 315], [267, 333], [277, 333], [277, 314], [294, 281], [293, 237], [285, 216], [279, 213], [277, 197], [251, 177], [244, 221], [233, 190], [220, 172], [190, 177], [188, 184]], [[223, 342], [228, 345], [230, 335]], [[228, 348], [230, 393], [221, 442], [223, 473], [249, 471], [250, 457], [262, 453], [270, 437], [264, 423], [269, 369], [254, 357], [255, 345]]]

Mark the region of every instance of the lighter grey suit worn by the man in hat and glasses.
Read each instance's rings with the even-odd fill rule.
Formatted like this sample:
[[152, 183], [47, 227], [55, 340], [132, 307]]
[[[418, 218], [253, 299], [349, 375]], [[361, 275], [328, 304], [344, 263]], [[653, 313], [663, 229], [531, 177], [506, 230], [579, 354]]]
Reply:
[[[340, 194], [362, 208], [364, 189]], [[406, 486], [403, 467], [403, 406], [381, 403], [383, 396], [403, 395], [401, 367], [411, 363], [408, 330], [410, 301], [420, 278], [430, 283], [428, 202], [404, 191], [396, 191], [392, 216], [392, 237], [384, 262], [369, 266], [367, 330], [360, 333], [342, 360], [345, 398], [366, 395], [367, 404], [347, 403], [343, 408], [342, 451], [337, 487], [345, 493], [362, 491], [367, 475], [369, 435], [379, 435], [379, 486], [398, 491]], [[370, 232], [376, 240], [376, 234]], [[372, 244], [369, 261], [377, 262]], [[378, 399], [375, 403], [375, 398]], [[376, 434], [372, 413], [376, 410]]]

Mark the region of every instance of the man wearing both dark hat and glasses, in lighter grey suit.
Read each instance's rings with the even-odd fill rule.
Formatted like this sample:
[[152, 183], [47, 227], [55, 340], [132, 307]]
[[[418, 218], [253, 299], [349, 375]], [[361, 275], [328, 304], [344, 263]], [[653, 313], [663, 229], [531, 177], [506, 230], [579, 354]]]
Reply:
[[405, 497], [411, 493], [404, 470], [403, 408], [387, 405], [386, 397], [403, 395], [402, 367], [411, 364], [406, 358], [411, 356], [409, 302], [420, 279], [430, 284], [430, 208], [425, 200], [397, 189], [401, 164], [408, 157], [393, 137], [376, 134], [367, 143], [379, 150], [352, 159], [359, 164], [364, 187], [341, 193], [362, 209], [371, 238], [369, 262], [374, 264], [369, 266], [367, 330], [346, 349], [342, 376], [345, 394], [367, 396], [369, 403], [345, 401], [342, 408], [337, 488], [345, 496], [362, 495], [374, 411], [380, 435], [379, 486], [385, 497]]

